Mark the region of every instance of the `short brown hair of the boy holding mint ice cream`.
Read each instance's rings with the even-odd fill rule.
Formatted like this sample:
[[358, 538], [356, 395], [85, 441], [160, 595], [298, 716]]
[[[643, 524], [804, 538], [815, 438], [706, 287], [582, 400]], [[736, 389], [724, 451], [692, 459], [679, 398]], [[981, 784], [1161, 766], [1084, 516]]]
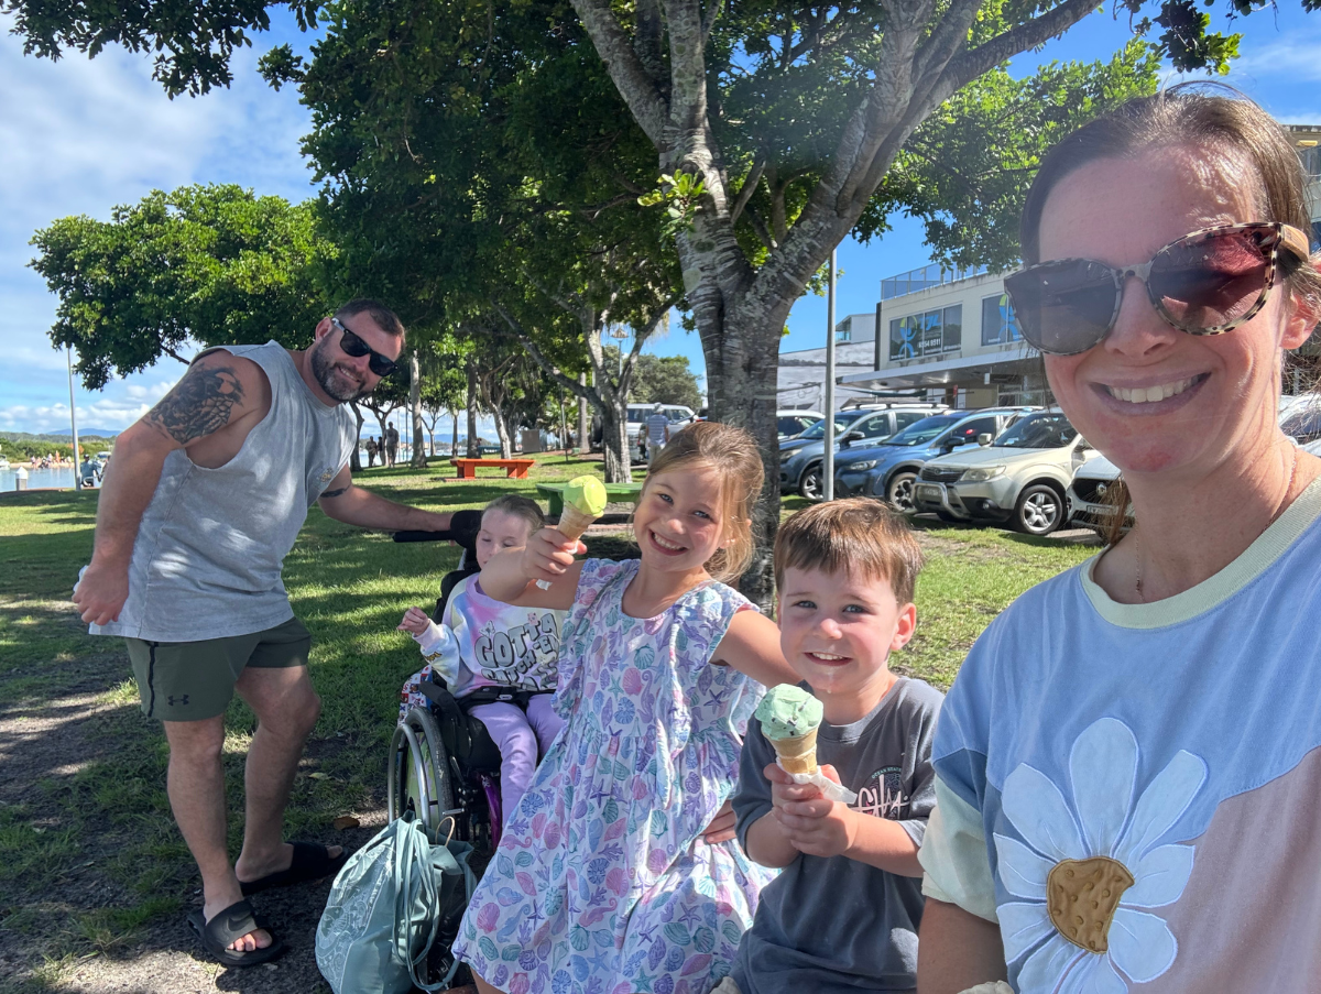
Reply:
[[775, 587], [785, 570], [852, 574], [890, 584], [900, 604], [910, 604], [922, 571], [922, 549], [908, 521], [868, 497], [818, 504], [801, 510], [775, 535]]

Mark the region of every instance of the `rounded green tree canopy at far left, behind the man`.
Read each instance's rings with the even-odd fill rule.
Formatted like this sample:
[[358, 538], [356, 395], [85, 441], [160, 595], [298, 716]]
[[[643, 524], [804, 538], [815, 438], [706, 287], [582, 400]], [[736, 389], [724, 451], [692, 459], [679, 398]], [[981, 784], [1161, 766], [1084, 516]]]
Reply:
[[89, 390], [189, 342], [304, 348], [332, 309], [333, 249], [309, 205], [232, 185], [153, 190], [110, 221], [67, 217], [33, 237], [32, 267], [59, 297], [50, 340], [71, 345]]

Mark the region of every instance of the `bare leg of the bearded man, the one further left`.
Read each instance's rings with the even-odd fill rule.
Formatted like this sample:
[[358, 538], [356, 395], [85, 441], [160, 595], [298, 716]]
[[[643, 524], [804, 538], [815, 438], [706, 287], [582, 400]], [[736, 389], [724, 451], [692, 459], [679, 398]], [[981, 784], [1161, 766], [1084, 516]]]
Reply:
[[[184, 834], [202, 874], [202, 915], [210, 921], [221, 911], [243, 900], [238, 878], [230, 867], [225, 838], [225, 716], [201, 722], [162, 722], [169, 740], [169, 771], [165, 789], [174, 822]], [[252, 952], [271, 945], [271, 936], [258, 929], [230, 944]]]

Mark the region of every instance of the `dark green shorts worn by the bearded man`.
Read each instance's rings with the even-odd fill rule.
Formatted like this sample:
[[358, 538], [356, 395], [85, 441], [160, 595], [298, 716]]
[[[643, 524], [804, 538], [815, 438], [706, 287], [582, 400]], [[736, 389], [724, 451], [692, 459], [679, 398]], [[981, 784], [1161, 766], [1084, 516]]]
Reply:
[[225, 714], [246, 668], [306, 666], [312, 648], [312, 634], [296, 617], [264, 632], [201, 642], [124, 641], [143, 714], [162, 722], [201, 722]]

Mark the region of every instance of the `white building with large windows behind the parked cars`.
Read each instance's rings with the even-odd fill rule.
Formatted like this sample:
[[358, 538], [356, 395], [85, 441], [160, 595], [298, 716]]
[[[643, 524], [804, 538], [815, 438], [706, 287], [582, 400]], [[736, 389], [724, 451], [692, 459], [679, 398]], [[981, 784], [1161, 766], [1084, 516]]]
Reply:
[[[1321, 243], [1321, 126], [1291, 126], [1288, 131], [1312, 176], [1316, 249]], [[840, 363], [838, 395], [847, 395], [845, 389], [926, 389], [941, 391], [958, 407], [1046, 401], [1041, 358], [1018, 337], [1003, 276], [926, 266], [881, 280], [876, 312], [872, 326], [878, 324], [881, 333], [872, 334], [872, 369], [849, 371]], [[824, 349], [818, 352], [824, 357]], [[1301, 352], [1321, 356], [1317, 336]], [[781, 383], [783, 375], [782, 367]], [[931, 394], [931, 399], [938, 398]]]

